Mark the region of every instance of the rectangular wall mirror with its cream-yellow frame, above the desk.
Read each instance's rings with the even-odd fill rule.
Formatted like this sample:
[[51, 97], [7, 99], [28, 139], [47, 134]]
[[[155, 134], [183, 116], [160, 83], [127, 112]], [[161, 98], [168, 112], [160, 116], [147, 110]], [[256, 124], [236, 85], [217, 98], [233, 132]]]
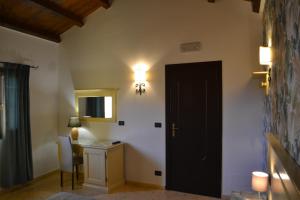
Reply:
[[116, 121], [116, 90], [75, 90], [76, 112], [81, 121]]

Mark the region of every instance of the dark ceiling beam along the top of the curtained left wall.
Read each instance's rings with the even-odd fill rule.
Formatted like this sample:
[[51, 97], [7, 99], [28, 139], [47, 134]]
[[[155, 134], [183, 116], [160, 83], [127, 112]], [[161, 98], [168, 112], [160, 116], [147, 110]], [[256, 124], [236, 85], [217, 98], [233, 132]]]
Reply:
[[16, 31], [19, 31], [22, 33], [34, 35], [36, 37], [50, 40], [50, 41], [57, 42], [57, 43], [59, 43], [61, 41], [60, 36], [57, 34], [51, 34], [47, 31], [40, 30], [35, 27], [27, 26], [21, 22], [18, 22], [18, 21], [12, 20], [12, 19], [8, 19], [4, 16], [0, 16], [0, 26], [6, 27], [9, 29], [13, 29], [13, 30], [16, 30]]

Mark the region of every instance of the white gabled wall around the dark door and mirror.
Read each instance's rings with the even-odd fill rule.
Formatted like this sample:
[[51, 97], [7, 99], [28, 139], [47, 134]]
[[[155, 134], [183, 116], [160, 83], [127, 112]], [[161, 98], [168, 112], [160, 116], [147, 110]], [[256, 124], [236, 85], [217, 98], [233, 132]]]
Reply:
[[[119, 88], [118, 120], [88, 123], [81, 137], [126, 142], [126, 178], [165, 185], [165, 74], [171, 63], [223, 61], [223, 193], [249, 190], [261, 168], [263, 91], [251, 73], [259, 68], [261, 18], [250, 2], [219, 0], [114, 0], [84, 27], [63, 35], [60, 46], [61, 134], [74, 114], [72, 90]], [[200, 52], [180, 53], [182, 42], [201, 41]], [[135, 95], [132, 66], [150, 70], [146, 95]], [[154, 122], [162, 122], [161, 129]], [[154, 170], [163, 176], [154, 176]]]

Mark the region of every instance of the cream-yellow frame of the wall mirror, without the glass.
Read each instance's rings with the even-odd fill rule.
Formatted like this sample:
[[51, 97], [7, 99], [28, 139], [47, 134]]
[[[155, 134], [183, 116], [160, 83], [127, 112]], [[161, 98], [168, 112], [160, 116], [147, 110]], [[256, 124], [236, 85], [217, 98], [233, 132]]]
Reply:
[[[112, 97], [112, 118], [80, 117], [78, 102], [80, 97]], [[75, 90], [75, 111], [82, 122], [116, 122], [117, 120], [117, 89]]]

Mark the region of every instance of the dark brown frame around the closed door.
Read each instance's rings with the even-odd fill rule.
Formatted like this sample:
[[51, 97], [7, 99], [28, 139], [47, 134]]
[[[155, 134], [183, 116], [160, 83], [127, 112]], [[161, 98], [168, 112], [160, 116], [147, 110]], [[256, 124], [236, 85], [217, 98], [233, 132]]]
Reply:
[[166, 64], [165, 65], [165, 113], [166, 113], [166, 116], [165, 116], [165, 140], [166, 140], [166, 164], [165, 164], [165, 167], [166, 167], [166, 170], [165, 170], [165, 173], [166, 173], [166, 176], [165, 176], [165, 189], [166, 190], [169, 190], [171, 189], [170, 188], [170, 181], [171, 181], [171, 176], [170, 176], [170, 169], [171, 169], [171, 159], [170, 159], [170, 155], [171, 155], [171, 151], [170, 151], [170, 136], [169, 136], [169, 133], [170, 133], [170, 130], [169, 130], [169, 126], [168, 126], [168, 123], [167, 123], [167, 113], [168, 113], [168, 105], [167, 105], [167, 85], [168, 85], [168, 80], [167, 80], [167, 66], [170, 66], [170, 65], [186, 65], [186, 64], [205, 64], [205, 63], [214, 63], [214, 62], [218, 62], [220, 63], [220, 67], [217, 68], [217, 76], [220, 80], [220, 89], [218, 89], [218, 95], [219, 97], [221, 98], [220, 99], [220, 121], [219, 121], [219, 127], [220, 127], [220, 156], [221, 156], [221, 169], [220, 169], [220, 181], [221, 181], [221, 184], [220, 184], [220, 197], [222, 196], [222, 191], [223, 191], [223, 62], [221, 60], [217, 60], [217, 61], [204, 61], [204, 62], [191, 62], [191, 63], [178, 63], [178, 64]]

